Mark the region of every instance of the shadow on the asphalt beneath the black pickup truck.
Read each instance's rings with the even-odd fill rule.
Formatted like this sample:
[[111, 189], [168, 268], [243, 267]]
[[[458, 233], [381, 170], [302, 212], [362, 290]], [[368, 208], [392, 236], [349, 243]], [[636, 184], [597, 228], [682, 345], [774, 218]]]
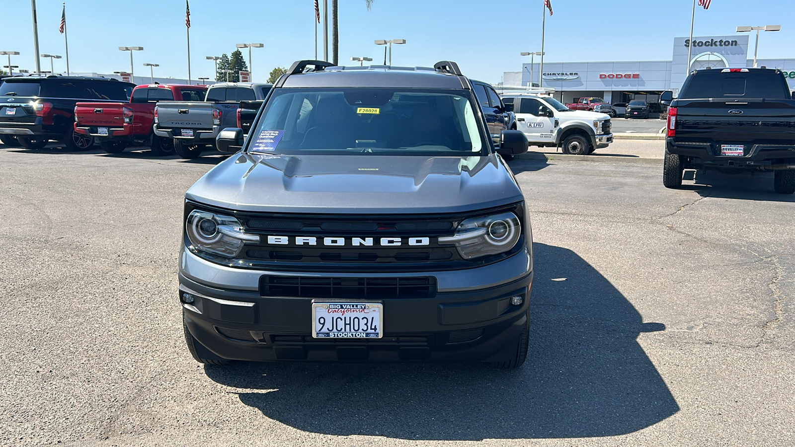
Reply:
[[773, 176], [773, 173], [758, 171], [726, 174], [686, 170], [682, 189], [695, 191], [700, 196], [721, 199], [795, 202], [795, 195], [777, 194], [774, 191]]

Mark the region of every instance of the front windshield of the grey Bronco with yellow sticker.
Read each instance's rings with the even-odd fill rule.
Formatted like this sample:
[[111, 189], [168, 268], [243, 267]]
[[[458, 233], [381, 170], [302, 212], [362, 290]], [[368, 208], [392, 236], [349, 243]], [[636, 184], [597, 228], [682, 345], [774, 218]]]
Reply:
[[279, 88], [251, 134], [267, 154], [487, 154], [463, 90]]

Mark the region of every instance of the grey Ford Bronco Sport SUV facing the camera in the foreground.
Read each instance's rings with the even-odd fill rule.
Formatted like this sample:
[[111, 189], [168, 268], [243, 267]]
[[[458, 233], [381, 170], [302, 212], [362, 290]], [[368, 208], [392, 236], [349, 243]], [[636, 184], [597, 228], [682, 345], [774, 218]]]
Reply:
[[188, 189], [188, 349], [229, 360], [525, 361], [525, 198], [458, 65], [335, 67], [277, 81], [239, 152]]

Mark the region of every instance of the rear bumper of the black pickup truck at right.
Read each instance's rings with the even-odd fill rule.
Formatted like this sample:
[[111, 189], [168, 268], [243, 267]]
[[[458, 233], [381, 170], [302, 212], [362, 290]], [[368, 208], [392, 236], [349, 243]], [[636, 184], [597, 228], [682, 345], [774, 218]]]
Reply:
[[718, 168], [775, 169], [783, 161], [795, 159], [795, 145], [747, 144], [743, 146], [743, 155], [739, 156], [721, 155], [720, 146], [723, 144], [736, 143], [674, 142], [673, 138], [665, 138], [665, 150], [669, 154], [689, 157], [688, 162], [692, 167], [705, 165]]

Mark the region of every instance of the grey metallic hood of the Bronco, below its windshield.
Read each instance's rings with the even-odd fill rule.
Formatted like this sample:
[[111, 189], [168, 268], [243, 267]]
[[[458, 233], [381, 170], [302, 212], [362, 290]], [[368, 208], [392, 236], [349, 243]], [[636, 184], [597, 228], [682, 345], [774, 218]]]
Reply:
[[524, 200], [488, 157], [235, 154], [204, 174], [189, 200], [252, 212], [467, 212]]

